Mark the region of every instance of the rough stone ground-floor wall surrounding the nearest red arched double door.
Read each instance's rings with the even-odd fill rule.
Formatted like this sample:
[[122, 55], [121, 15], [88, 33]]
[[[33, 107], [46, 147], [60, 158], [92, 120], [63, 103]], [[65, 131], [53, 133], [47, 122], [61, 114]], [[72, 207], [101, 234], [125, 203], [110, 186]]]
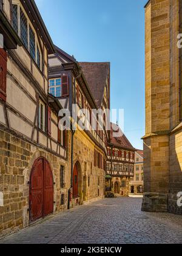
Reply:
[[[67, 207], [69, 164], [67, 161], [18, 137], [0, 130], [0, 235], [9, 234], [29, 225], [29, 179], [32, 165], [45, 157], [52, 168], [54, 213]], [[60, 165], [66, 170], [66, 187], [60, 188]], [[61, 206], [61, 193], [65, 204]]]

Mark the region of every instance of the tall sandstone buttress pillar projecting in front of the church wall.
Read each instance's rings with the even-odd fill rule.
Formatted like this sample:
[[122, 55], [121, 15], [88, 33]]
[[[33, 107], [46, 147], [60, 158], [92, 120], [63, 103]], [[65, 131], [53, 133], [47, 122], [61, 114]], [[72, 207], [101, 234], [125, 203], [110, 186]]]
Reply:
[[146, 134], [142, 210], [167, 211], [170, 130], [170, 0], [146, 5]]

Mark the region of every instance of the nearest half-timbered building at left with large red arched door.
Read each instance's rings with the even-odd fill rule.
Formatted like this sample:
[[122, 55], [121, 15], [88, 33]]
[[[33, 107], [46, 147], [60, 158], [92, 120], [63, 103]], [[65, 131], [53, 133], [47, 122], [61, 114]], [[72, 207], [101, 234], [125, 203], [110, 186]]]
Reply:
[[6, 234], [66, 207], [69, 155], [67, 132], [58, 130], [61, 104], [48, 91], [55, 47], [35, 2], [1, 0], [0, 34], [0, 233]]

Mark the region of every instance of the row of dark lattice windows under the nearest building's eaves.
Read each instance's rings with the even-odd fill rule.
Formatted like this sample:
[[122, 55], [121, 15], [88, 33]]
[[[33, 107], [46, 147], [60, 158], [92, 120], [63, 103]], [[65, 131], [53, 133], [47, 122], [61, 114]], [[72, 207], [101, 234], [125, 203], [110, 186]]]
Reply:
[[39, 69], [42, 69], [42, 55], [38, 37], [21, 4], [12, 5], [12, 26]]

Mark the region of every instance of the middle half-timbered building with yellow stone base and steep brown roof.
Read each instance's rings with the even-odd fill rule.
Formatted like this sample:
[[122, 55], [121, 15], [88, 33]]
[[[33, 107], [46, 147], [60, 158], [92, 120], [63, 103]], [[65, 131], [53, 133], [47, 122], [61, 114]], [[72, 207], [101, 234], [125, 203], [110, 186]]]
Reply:
[[[56, 54], [49, 55], [49, 92], [59, 100], [62, 108], [69, 109], [73, 126], [76, 126], [69, 137], [71, 168], [68, 178], [72, 200], [69, 204], [103, 197], [109, 133], [105, 125], [107, 117], [103, 115], [104, 129], [101, 129], [98, 117], [92, 120], [92, 109], [110, 108], [110, 64], [78, 63], [56, 47]], [[76, 117], [73, 116], [73, 104], [76, 105]], [[86, 129], [81, 129], [80, 120]]]

